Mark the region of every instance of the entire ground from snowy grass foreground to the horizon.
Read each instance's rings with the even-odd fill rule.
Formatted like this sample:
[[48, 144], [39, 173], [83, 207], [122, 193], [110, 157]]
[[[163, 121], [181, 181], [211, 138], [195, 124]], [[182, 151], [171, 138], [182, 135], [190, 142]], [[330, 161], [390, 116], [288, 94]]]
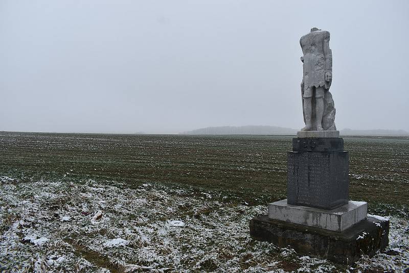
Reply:
[[0, 133], [2, 272], [401, 272], [409, 139], [348, 137], [350, 198], [391, 220], [352, 266], [252, 240], [285, 198], [290, 136]]

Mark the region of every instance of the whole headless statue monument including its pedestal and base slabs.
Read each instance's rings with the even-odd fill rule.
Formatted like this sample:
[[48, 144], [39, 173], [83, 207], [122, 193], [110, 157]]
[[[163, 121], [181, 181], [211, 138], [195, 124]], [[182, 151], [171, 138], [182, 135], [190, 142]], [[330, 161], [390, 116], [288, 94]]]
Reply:
[[268, 215], [251, 219], [250, 234], [300, 254], [350, 264], [387, 247], [389, 221], [368, 215], [366, 202], [349, 201], [348, 152], [335, 128], [329, 92], [329, 32], [313, 28], [300, 44], [305, 128], [287, 153], [287, 198], [268, 204]]

